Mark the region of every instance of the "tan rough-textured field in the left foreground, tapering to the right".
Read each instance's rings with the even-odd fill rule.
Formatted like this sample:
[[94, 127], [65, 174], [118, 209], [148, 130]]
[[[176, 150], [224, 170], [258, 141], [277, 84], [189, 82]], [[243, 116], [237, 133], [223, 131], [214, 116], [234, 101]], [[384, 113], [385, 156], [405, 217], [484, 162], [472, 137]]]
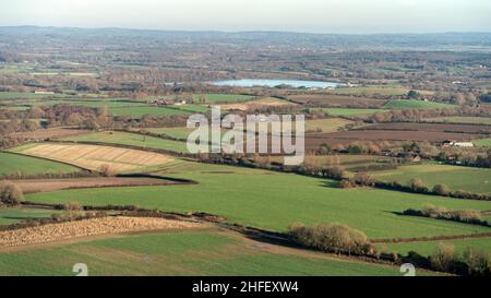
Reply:
[[0, 250], [96, 235], [206, 228], [205, 224], [144, 217], [104, 217], [0, 231]]

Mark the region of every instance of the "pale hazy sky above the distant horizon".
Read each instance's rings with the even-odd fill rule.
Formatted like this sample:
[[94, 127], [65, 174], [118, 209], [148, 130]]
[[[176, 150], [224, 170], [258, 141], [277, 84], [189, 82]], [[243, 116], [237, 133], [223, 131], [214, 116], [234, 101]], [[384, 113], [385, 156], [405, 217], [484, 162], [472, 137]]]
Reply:
[[491, 1], [1, 0], [0, 25], [315, 33], [491, 32]]

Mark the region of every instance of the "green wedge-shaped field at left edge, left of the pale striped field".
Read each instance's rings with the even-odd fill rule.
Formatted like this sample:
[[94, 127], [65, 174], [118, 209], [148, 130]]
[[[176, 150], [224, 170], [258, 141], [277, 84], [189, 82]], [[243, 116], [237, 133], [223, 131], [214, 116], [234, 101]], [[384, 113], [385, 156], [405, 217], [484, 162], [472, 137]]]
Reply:
[[0, 152], [0, 177], [5, 175], [44, 172], [75, 172], [80, 169], [73, 166], [46, 159]]

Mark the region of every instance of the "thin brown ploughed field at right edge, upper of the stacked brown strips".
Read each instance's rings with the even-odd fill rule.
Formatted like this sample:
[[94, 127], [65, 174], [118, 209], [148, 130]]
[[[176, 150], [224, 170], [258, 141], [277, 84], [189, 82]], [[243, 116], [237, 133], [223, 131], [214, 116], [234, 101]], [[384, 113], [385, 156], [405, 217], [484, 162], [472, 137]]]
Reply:
[[436, 123], [381, 123], [363, 127], [361, 130], [433, 131], [457, 133], [491, 133], [488, 126], [436, 124]]

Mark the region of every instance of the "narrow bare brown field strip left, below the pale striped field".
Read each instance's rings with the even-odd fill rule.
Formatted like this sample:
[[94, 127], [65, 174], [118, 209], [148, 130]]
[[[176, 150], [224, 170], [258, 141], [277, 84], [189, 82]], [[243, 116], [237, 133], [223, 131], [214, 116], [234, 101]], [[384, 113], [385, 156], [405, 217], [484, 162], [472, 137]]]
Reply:
[[74, 179], [23, 179], [11, 180], [19, 186], [24, 193], [50, 192], [64, 189], [82, 188], [108, 188], [108, 187], [143, 187], [143, 186], [170, 186], [177, 182], [153, 178], [74, 178]]

